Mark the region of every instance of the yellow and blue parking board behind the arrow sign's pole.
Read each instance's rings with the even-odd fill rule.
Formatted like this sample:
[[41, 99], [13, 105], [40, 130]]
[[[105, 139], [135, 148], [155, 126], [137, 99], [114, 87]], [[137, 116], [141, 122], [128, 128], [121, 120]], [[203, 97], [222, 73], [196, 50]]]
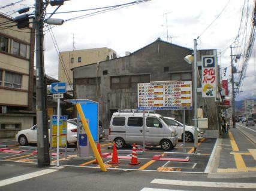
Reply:
[[[67, 116], [59, 116], [59, 146], [66, 146], [67, 139]], [[52, 115], [52, 147], [57, 147], [58, 116]]]

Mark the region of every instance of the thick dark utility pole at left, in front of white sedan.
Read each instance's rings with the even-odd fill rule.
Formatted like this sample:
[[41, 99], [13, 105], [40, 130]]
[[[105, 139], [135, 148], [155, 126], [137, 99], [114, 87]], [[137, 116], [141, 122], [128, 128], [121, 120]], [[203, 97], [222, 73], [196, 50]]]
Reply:
[[38, 167], [50, 165], [49, 132], [47, 122], [47, 93], [44, 79], [43, 0], [35, 1], [35, 57]]

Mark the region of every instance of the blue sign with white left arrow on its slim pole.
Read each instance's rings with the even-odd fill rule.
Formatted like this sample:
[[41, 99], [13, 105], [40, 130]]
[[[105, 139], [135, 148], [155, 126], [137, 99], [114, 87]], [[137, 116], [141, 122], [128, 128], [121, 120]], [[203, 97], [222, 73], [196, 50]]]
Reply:
[[[58, 99], [58, 107], [57, 107], [57, 167], [59, 167], [59, 103], [60, 98], [64, 97], [61, 93], [66, 93], [66, 83], [52, 83], [51, 85], [51, 93], [53, 94], [53, 98]], [[54, 96], [56, 94], [56, 96]], [[66, 125], [67, 126], [67, 125]]]

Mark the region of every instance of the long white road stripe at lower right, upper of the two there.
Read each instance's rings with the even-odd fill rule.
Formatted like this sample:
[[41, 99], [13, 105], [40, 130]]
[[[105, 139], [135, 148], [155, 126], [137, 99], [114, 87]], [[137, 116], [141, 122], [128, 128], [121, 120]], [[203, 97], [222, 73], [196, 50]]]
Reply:
[[212, 181], [186, 181], [186, 180], [167, 180], [154, 179], [150, 183], [153, 184], [168, 184], [175, 186], [198, 186], [198, 187], [228, 187], [234, 189], [256, 189], [255, 183], [223, 183]]

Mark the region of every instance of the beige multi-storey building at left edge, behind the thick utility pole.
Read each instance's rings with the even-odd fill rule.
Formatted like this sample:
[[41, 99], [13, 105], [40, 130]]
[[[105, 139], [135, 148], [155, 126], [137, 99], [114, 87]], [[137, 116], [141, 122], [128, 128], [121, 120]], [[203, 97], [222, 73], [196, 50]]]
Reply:
[[[34, 30], [17, 29], [0, 14], [0, 138], [32, 127]], [[10, 27], [13, 26], [13, 27]]]

